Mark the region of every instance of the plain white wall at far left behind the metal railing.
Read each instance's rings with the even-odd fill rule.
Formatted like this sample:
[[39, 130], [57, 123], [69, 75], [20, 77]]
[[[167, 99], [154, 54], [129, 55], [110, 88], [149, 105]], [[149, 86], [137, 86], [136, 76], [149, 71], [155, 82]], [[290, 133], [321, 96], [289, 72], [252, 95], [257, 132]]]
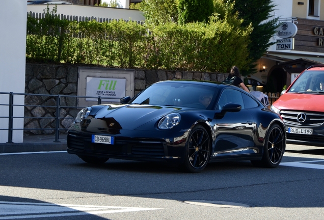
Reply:
[[[1, 0], [0, 7], [0, 92], [24, 93], [27, 0]], [[9, 104], [8, 95], [0, 95], [1, 104]], [[24, 96], [14, 96], [14, 104], [24, 104]], [[9, 107], [0, 105], [0, 115], [8, 116]], [[15, 117], [23, 117], [23, 107], [14, 108]], [[23, 128], [23, 119], [14, 119], [14, 128]], [[8, 119], [0, 118], [0, 128], [8, 128]], [[23, 130], [13, 131], [13, 142], [21, 143]], [[0, 142], [8, 142], [8, 130], [0, 130]]]

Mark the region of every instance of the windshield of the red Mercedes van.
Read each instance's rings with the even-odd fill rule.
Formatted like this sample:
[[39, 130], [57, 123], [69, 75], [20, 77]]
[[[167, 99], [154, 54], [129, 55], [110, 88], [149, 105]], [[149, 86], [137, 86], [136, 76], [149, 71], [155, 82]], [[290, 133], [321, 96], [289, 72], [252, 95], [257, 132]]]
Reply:
[[288, 93], [324, 93], [324, 72], [305, 71], [293, 83]]

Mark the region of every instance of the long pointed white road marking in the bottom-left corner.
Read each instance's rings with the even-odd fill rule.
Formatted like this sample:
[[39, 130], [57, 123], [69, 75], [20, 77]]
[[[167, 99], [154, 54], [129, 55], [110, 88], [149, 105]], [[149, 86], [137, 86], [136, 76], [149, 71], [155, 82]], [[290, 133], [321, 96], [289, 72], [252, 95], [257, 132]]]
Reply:
[[0, 219], [61, 217], [86, 214], [147, 211], [158, 209], [160, 208], [91, 206], [51, 203], [22, 203], [0, 201]]

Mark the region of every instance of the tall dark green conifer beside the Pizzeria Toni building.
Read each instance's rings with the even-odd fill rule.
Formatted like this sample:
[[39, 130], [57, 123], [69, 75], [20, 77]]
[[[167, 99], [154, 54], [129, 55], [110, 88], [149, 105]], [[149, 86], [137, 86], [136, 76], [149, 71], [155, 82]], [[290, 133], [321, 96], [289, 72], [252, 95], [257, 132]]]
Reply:
[[255, 62], [262, 57], [267, 48], [275, 42], [269, 39], [275, 34], [278, 27], [278, 18], [272, 18], [271, 12], [275, 9], [272, 0], [228, 0], [234, 3], [234, 9], [238, 12], [238, 18], [244, 21], [242, 25], [252, 24], [253, 32], [250, 35], [248, 45], [250, 65], [247, 69], [241, 69], [242, 75], [255, 73]]

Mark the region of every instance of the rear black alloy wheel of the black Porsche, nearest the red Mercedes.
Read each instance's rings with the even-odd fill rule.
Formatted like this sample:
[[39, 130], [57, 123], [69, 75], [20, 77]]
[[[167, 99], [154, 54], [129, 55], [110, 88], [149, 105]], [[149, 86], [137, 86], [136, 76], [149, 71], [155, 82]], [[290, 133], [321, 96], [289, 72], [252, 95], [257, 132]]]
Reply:
[[261, 160], [252, 160], [252, 164], [258, 167], [278, 167], [285, 152], [286, 142], [281, 127], [272, 125], [266, 135], [264, 152]]

